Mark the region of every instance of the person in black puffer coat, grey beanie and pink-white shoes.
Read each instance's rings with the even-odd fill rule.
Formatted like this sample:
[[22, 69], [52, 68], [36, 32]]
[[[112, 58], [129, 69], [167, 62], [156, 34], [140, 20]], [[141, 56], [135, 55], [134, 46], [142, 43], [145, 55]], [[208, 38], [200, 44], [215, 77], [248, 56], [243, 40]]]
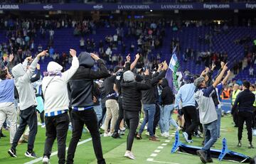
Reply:
[[[129, 65], [129, 62], [127, 62]], [[127, 136], [127, 151], [124, 156], [130, 159], [135, 159], [132, 153], [132, 143], [134, 135], [139, 124], [139, 111], [142, 109], [142, 90], [151, 87], [149, 80], [149, 70], [145, 72], [144, 82], [136, 82], [132, 71], [124, 72], [122, 89], [122, 107], [124, 109], [124, 121], [126, 122], [129, 133]]]

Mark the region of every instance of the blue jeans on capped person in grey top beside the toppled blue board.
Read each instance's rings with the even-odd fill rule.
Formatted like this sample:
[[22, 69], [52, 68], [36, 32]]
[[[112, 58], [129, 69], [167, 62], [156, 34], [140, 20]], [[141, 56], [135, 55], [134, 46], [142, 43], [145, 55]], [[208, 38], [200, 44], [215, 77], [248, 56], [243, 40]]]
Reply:
[[203, 125], [205, 132], [205, 145], [203, 146], [202, 150], [206, 152], [208, 158], [210, 157], [210, 147], [213, 146], [218, 139], [217, 122], [218, 120], [215, 120], [209, 124]]

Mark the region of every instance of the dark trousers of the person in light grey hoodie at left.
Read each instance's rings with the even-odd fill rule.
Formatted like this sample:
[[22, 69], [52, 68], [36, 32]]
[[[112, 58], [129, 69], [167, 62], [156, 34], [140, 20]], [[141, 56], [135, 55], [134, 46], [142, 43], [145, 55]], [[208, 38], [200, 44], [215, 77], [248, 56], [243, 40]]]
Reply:
[[12, 143], [11, 148], [16, 150], [16, 146], [18, 145], [18, 140], [21, 138], [24, 133], [26, 126], [29, 127], [29, 135], [28, 135], [28, 151], [33, 151], [33, 145], [36, 140], [36, 133], [38, 131], [37, 124], [37, 116], [36, 116], [36, 106], [30, 106], [25, 110], [22, 110], [20, 113], [20, 125], [14, 136], [14, 141]]

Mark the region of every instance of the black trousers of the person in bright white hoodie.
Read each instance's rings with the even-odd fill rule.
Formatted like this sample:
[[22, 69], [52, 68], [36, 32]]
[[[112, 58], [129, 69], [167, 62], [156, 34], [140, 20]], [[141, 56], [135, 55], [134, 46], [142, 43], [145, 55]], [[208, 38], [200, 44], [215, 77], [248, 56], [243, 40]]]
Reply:
[[46, 116], [46, 143], [43, 155], [47, 155], [50, 158], [53, 143], [57, 137], [58, 163], [65, 163], [65, 142], [67, 139], [68, 124], [68, 112], [58, 116]]

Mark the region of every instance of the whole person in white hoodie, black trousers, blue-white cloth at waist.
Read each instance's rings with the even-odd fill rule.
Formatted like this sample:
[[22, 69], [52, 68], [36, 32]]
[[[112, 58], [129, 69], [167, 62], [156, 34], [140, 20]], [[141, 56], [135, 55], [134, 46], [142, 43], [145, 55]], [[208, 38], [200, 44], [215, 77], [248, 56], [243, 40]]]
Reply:
[[68, 80], [78, 70], [79, 62], [76, 51], [70, 49], [73, 57], [69, 70], [61, 72], [63, 67], [57, 62], [49, 62], [47, 75], [43, 77], [42, 90], [46, 116], [46, 143], [43, 153], [43, 163], [49, 163], [53, 142], [58, 141], [58, 163], [65, 163], [65, 142], [68, 133]]

